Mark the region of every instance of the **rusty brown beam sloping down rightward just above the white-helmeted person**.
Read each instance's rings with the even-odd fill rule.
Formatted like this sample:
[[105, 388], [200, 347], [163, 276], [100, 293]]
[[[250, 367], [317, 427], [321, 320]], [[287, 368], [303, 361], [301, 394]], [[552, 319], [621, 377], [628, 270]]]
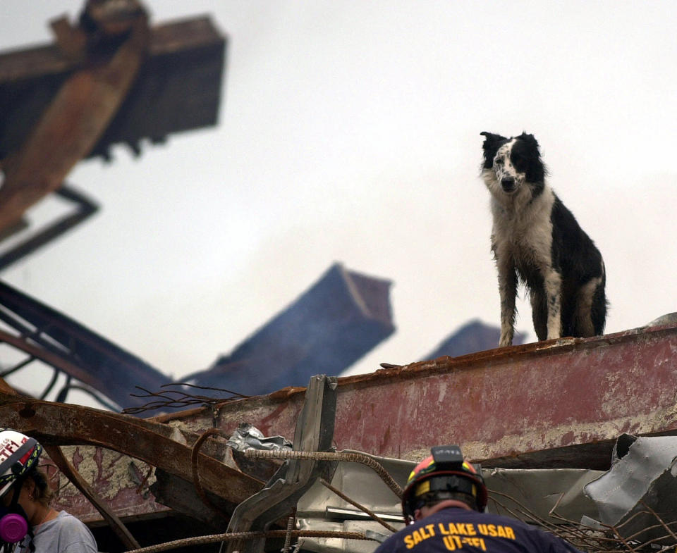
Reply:
[[[193, 480], [192, 447], [185, 434], [167, 425], [88, 407], [16, 397], [0, 391], [0, 421], [46, 445], [95, 445], [133, 456]], [[262, 483], [200, 453], [200, 482], [233, 507]]]

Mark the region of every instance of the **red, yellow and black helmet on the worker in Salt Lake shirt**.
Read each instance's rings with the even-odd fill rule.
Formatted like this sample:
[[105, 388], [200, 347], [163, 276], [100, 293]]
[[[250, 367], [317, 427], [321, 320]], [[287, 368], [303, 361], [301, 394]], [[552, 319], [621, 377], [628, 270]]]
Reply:
[[410, 521], [420, 509], [421, 497], [431, 492], [461, 492], [475, 498], [477, 511], [487, 506], [487, 486], [482, 475], [463, 459], [457, 445], [437, 446], [411, 471], [402, 494], [402, 512]]

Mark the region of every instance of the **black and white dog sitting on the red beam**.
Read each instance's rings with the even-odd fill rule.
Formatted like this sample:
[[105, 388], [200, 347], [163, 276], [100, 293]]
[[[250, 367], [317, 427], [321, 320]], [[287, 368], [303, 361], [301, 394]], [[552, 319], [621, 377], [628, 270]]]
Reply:
[[499, 270], [501, 339], [513, 343], [518, 280], [531, 296], [539, 340], [604, 332], [604, 261], [545, 182], [538, 142], [523, 132], [482, 132], [482, 178], [492, 194], [492, 251]]

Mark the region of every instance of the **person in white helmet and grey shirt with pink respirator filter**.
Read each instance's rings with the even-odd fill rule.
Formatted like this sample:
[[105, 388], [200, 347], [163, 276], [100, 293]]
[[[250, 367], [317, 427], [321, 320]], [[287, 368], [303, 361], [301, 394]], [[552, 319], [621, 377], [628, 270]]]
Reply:
[[0, 428], [0, 553], [96, 553], [87, 526], [49, 507], [47, 476], [37, 468], [41, 453], [35, 438]]

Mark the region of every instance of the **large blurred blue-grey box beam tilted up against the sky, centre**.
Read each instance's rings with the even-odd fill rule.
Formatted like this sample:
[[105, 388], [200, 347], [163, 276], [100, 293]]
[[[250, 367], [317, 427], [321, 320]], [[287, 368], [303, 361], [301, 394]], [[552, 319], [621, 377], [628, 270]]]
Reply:
[[184, 378], [257, 395], [303, 386], [318, 373], [338, 375], [394, 332], [390, 285], [334, 263], [231, 354]]

